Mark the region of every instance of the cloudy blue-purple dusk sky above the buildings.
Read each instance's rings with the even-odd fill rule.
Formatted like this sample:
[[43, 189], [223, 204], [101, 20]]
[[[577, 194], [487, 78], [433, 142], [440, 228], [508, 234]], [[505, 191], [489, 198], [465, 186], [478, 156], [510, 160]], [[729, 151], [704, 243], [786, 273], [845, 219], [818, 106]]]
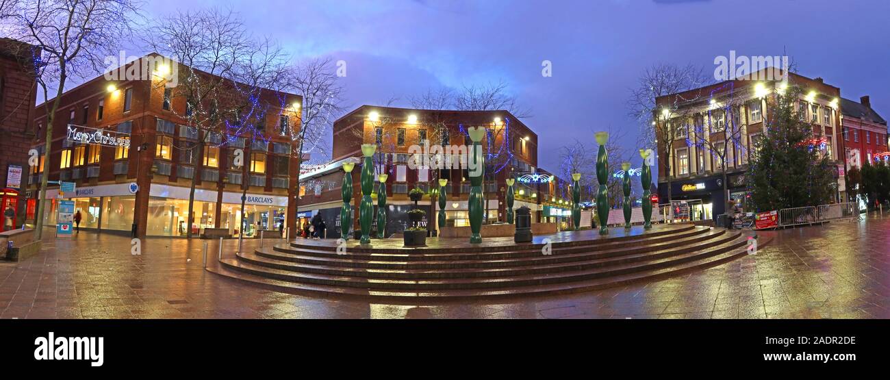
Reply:
[[[257, 35], [295, 59], [347, 63], [347, 103], [383, 104], [430, 87], [504, 80], [533, 117], [540, 165], [557, 170], [557, 150], [593, 146], [627, 117], [628, 89], [657, 61], [711, 72], [718, 55], [780, 55], [800, 74], [823, 77], [848, 99], [871, 95], [890, 117], [890, 1], [784, 0], [152, 0], [149, 12], [231, 6]], [[541, 62], [553, 62], [553, 77]], [[636, 166], [636, 165], [635, 165]]]

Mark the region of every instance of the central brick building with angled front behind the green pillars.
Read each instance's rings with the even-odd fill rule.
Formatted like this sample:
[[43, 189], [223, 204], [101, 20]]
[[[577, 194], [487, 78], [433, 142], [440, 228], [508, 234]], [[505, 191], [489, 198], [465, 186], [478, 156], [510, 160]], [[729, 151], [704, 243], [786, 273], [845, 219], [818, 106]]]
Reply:
[[[418, 205], [426, 207], [427, 218], [433, 221], [431, 229], [434, 229], [435, 219], [429, 216], [438, 212], [438, 205], [431, 202], [431, 197], [435, 199], [440, 178], [449, 180], [446, 190], [446, 218], [449, 225], [469, 225], [467, 198], [470, 182], [467, 170], [456, 166], [457, 156], [455, 160], [447, 161], [450, 166], [446, 164], [447, 167], [441, 170], [417, 166], [412, 169], [409, 161], [422, 157], [424, 153], [429, 154], [432, 146], [471, 145], [466, 129], [476, 125], [488, 130], [486, 139], [482, 141], [483, 151], [488, 155], [482, 187], [489, 210], [487, 220], [503, 222], [506, 218], [506, 178], [520, 178], [524, 174], [550, 175], [537, 169], [537, 133], [505, 110], [401, 109], [368, 105], [352, 110], [334, 123], [333, 161], [301, 175], [304, 195], [300, 201], [300, 217], [305, 221], [314, 214], [321, 214], [328, 228], [336, 230], [333, 234], [329, 232], [328, 237], [339, 236], [343, 163], [360, 162], [361, 144], [372, 143], [377, 147], [374, 157], [376, 173], [388, 174], [386, 189], [390, 213], [387, 233], [400, 232], [407, 224], [407, 220], [399, 218], [412, 204], [408, 192], [413, 188], [426, 192]], [[358, 210], [361, 198], [358, 186], [360, 169], [354, 169], [352, 177], [356, 184], [353, 208]], [[553, 187], [549, 182], [517, 181], [514, 208], [529, 206], [533, 220], [537, 222], [541, 217], [542, 205], [558, 204], [558, 199], [554, 197], [559, 195], [551, 191]], [[552, 202], [548, 200], [551, 198]], [[353, 218], [353, 221], [353, 228], [357, 228], [358, 218]]]

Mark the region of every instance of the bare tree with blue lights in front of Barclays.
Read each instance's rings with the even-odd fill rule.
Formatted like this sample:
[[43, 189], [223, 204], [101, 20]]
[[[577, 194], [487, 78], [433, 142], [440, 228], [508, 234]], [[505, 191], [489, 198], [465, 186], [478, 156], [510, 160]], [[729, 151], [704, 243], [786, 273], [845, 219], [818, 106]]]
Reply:
[[[268, 141], [266, 114], [291, 107], [280, 96], [290, 79], [287, 56], [268, 38], [255, 39], [247, 33], [233, 12], [178, 12], [152, 25], [147, 36], [152, 49], [182, 63], [175, 71], [178, 85], [172, 88], [170, 101], [183, 99], [186, 107], [170, 109], [197, 131], [197, 143], [174, 148], [183, 150], [196, 167], [203, 166], [194, 158], [206, 146], [229, 143], [229, 139], [214, 136], [247, 135], [247, 141]], [[197, 184], [198, 170], [190, 184], [188, 237]], [[242, 188], [247, 191], [243, 180]]]

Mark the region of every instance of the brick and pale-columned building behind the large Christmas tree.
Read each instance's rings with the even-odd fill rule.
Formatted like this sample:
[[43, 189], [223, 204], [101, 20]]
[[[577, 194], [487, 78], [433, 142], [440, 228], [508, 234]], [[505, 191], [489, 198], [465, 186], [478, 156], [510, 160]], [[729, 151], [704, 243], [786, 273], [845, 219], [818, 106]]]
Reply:
[[[842, 170], [842, 158], [837, 156], [836, 148], [840, 131], [837, 128], [840, 89], [824, 83], [820, 77], [811, 79], [794, 73], [789, 73], [787, 85], [802, 89], [795, 107], [801, 117], [812, 123], [813, 133], [821, 141], [818, 146], [822, 154], [836, 161]], [[668, 175], [672, 199], [694, 205], [691, 214], [703, 219], [724, 214], [727, 199], [744, 202], [749, 152], [754, 149], [754, 141], [766, 132], [764, 121], [773, 112], [768, 107], [773, 104], [770, 100], [785, 88], [781, 81], [728, 80], [657, 98], [656, 120], [668, 123], [673, 133], [671, 139], [658, 141], [661, 202], [667, 203]], [[729, 115], [726, 109], [731, 110]], [[737, 125], [739, 132], [727, 137], [727, 125]], [[698, 143], [702, 140], [711, 143]], [[666, 143], [670, 144], [667, 157], [663, 154]], [[722, 154], [717, 155], [714, 150], [726, 152], [728, 194], [723, 191], [723, 160], [719, 158]], [[843, 186], [841, 176], [838, 190], [843, 191]]]

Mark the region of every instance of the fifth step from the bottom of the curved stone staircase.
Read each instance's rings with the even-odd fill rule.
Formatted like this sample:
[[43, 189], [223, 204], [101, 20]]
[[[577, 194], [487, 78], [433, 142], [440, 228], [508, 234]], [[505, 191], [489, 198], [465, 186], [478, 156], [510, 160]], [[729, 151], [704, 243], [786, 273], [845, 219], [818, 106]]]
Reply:
[[[675, 234], [668, 235], [657, 235], [651, 237], [649, 235], [644, 235], [640, 237], [635, 237], [635, 239], [622, 239], [622, 240], [586, 240], [585, 242], [579, 242], [578, 244], [574, 244], [571, 246], [552, 246], [552, 252], [560, 252], [560, 253], [576, 253], [576, 252], [592, 252], [592, 251], [601, 251], [601, 250], [610, 250], [610, 249], [618, 249], [623, 247], [646, 247], [652, 244], [663, 243], [668, 241], [673, 241], [677, 239], [684, 239], [696, 235], [701, 235], [708, 233], [710, 230], [709, 227], [696, 227], [692, 226], [690, 229], [683, 229], [680, 232]], [[291, 244], [292, 246], [293, 244]], [[325, 257], [325, 258], [336, 258], [336, 259], [347, 259], [347, 260], [367, 260], [367, 261], [376, 261], [376, 262], [385, 262], [385, 261], [393, 261], [393, 262], [422, 262], [422, 261], [446, 261], [446, 260], [499, 260], [499, 259], [512, 259], [517, 257], [534, 257], [541, 255], [541, 249], [544, 247], [541, 244], [514, 244], [512, 249], [510, 250], [500, 250], [493, 252], [476, 252], [476, 253], [463, 253], [463, 252], [453, 252], [449, 251], [447, 253], [441, 252], [433, 252], [432, 250], [427, 249], [418, 249], [418, 250], [403, 250], [401, 253], [393, 254], [391, 250], [386, 250], [380, 253], [360, 253], [353, 251], [354, 248], [350, 247], [346, 249], [346, 252], [343, 254], [338, 254], [336, 251], [330, 251], [327, 249], [295, 249], [293, 247], [288, 247], [287, 244], [277, 244], [272, 247], [275, 251], [287, 254], [287, 255], [300, 255], [300, 256], [314, 256], [314, 257]]]

